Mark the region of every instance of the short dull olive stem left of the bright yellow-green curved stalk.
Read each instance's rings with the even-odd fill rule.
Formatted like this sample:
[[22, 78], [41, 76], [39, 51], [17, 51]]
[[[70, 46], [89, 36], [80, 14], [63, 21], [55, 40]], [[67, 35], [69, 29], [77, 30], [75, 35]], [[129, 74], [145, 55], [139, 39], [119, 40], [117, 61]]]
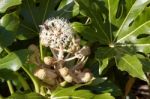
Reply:
[[15, 73], [18, 76], [18, 79], [21, 82], [24, 90], [30, 90], [30, 87], [29, 87], [27, 81], [18, 72], [15, 72]]

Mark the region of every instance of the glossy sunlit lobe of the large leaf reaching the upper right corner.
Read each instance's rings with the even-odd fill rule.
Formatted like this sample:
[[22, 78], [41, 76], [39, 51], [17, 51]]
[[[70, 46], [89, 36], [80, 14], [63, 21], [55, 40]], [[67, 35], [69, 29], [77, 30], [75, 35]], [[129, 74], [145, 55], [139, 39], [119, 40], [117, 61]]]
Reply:
[[119, 30], [115, 34], [117, 42], [122, 42], [125, 39], [131, 39], [140, 33], [149, 33], [149, 16], [148, 13], [150, 8], [147, 5], [150, 3], [149, 0], [140, 1], [136, 0], [129, 10], [124, 21], [122, 22]]

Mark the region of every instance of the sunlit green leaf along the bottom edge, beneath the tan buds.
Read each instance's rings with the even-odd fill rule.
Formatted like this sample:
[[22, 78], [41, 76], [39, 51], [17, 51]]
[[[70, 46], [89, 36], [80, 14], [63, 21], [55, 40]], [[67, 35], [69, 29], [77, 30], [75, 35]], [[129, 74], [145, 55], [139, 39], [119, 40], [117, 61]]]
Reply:
[[68, 88], [58, 88], [56, 91], [54, 91], [51, 95], [51, 98], [62, 98], [62, 99], [76, 99], [76, 98], [82, 98], [82, 99], [115, 99], [113, 96], [111, 96], [109, 93], [105, 94], [93, 94], [90, 90], [76, 90], [80, 86], [73, 86]]

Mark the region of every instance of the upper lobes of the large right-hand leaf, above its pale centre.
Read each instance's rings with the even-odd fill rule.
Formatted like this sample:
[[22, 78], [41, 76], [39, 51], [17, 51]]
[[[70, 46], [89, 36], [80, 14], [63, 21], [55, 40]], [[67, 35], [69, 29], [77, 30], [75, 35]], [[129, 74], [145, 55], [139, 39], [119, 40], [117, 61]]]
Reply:
[[91, 19], [89, 28], [94, 32], [85, 31], [85, 37], [86, 34], [92, 33], [92, 37], [102, 44], [113, 44], [114, 47], [118, 44], [133, 45], [137, 51], [149, 53], [150, 44], [141, 43], [138, 39], [140, 34], [150, 34], [149, 0], [76, 0], [76, 2], [79, 4], [80, 11]]

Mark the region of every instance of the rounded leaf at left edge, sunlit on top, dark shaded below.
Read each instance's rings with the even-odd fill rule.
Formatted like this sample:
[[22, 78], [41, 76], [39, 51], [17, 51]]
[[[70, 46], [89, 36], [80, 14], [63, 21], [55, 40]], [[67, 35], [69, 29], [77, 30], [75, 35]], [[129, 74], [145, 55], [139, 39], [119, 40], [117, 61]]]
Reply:
[[5, 14], [0, 21], [0, 46], [5, 48], [14, 42], [15, 31], [19, 25], [19, 17], [16, 12], [13, 12]]

